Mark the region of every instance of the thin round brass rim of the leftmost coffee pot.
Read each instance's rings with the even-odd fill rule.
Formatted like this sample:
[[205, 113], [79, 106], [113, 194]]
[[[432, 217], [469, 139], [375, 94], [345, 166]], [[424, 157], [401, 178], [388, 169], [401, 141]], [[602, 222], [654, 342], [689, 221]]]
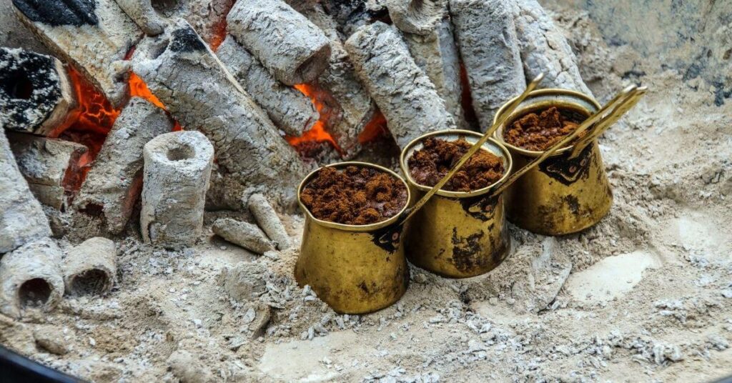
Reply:
[[399, 176], [399, 174], [396, 174], [394, 171], [391, 171], [387, 168], [384, 168], [383, 166], [378, 166], [373, 163], [348, 161], [348, 162], [343, 162], [343, 163], [333, 163], [333, 164], [325, 166], [325, 167], [341, 169], [341, 168], [347, 168], [348, 166], [357, 166], [359, 168], [364, 168], [364, 167], [375, 168], [376, 170], [383, 171], [384, 173], [387, 173], [387, 174], [395, 177], [396, 179], [398, 179], [400, 182], [402, 182], [402, 184], [404, 185], [404, 187], [406, 187], [406, 190], [407, 190], [407, 200], [406, 200], [406, 203], [404, 204], [404, 206], [402, 207], [402, 209], [400, 209], [397, 214], [395, 214], [393, 217], [390, 217], [387, 220], [382, 220], [381, 222], [377, 222], [377, 223], [371, 223], [369, 225], [346, 225], [345, 223], [335, 223], [335, 222], [330, 222], [327, 220], [318, 220], [318, 218], [315, 218], [313, 216], [313, 213], [310, 212], [310, 209], [307, 209], [305, 204], [302, 203], [302, 190], [305, 189], [305, 186], [307, 185], [308, 182], [310, 182], [310, 179], [312, 179], [313, 176], [315, 176], [315, 174], [318, 174], [318, 171], [321, 170], [321, 168], [317, 168], [314, 171], [310, 172], [310, 174], [307, 174], [307, 176], [305, 176], [305, 179], [302, 179], [302, 182], [300, 182], [300, 185], [297, 187], [297, 202], [298, 202], [298, 204], [300, 204], [300, 208], [302, 209], [302, 211], [305, 212], [307, 217], [309, 217], [311, 220], [313, 220], [315, 223], [317, 223], [320, 226], [325, 226], [327, 228], [337, 228], [337, 229], [344, 230], [344, 231], [374, 231], [379, 228], [384, 228], [385, 226], [389, 226], [392, 223], [395, 223], [399, 219], [399, 217], [404, 214], [404, 211], [407, 209], [407, 207], [409, 207], [409, 205], [411, 204], [411, 190], [409, 190], [409, 185], [407, 185], [407, 182], [404, 181], [404, 179], [401, 176]]

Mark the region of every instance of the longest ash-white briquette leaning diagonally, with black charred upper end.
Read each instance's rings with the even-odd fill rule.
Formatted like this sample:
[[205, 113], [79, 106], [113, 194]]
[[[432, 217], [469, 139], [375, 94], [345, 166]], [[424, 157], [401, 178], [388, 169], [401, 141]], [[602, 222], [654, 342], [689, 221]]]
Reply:
[[186, 129], [212, 141], [225, 192], [294, 201], [305, 164], [195, 31], [182, 21], [148, 39], [135, 51], [135, 72]]

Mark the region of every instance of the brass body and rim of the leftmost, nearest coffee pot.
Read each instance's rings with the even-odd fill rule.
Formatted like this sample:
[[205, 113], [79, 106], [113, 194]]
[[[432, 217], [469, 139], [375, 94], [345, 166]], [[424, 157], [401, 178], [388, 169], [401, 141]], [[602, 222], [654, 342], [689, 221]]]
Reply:
[[[347, 166], [376, 168], [404, 182], [395, 172], [370, 163], [346, 162], [329, 167]], [[308, 174], [297, 190], [305, 213], [302, 246], [295, 266], [297, 283], [310, 285], [318, 298], [337, 313], [371, 313], [392, 305], [402, 297], [409, 282], [404, 227], [397, 221], [411, 203], [411, 193], [399, 214], [379, 223], [359, 226], [318, 220], [301, 199], [303, 188], [316, 172]], [[386, 231], [392, 234], [381, 239]]]

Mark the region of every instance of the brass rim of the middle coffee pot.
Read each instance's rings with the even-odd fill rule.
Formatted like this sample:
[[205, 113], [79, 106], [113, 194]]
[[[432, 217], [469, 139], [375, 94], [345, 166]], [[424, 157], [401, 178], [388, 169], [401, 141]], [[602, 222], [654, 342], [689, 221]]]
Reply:
[[[415, 138], [413, 141], [407, 144], [407, 146], [404, 147], [404, 149], [402, 150], [402, 155], [399, 158], [399, 166], [401, 166], [402, 172], [405, 174], [407, 182], [410, 185], [414, 185], [414, 187], [417, 187], [423, 192], [430, 191], [432, 190], [431, 186], [421, 185], [417, 183], [417, 181], [414, 181], [414, 178], [412, 178], [411, 176], [411, 171], [409, 171], [409, 158], [412, 156], [412, 153], [419, 149], [422, 149], [422, 141], [425, 141], [426, 138], [430, 137], [441, 138], [446, 141], [455, 141], [459, 138], [465, 138], [468, 143], [475, 144], [482, 136], [483, 135], [481, 133], [473, 132], [471, 130], [460, 129], [440, 130], [438, 132], [427, 133], [418, 138]], [[449, 198], [468, 198], [480, 196], [482, 194], [488, 193], [491, 189], [493, 189], [493, 187], [501, 184], [501, 182], [504, 182], [509, 174], [511, 174], [511, 169], [513, 167], [513, 159], [511, 158], [508, 149], [506, 149], [506, 146], [504, 146], [504, 144], [494, 138], [489, 138], [488, 141], [483, 144], [481, 149], [487, 150], [488, 152], [493, 153], [493, 155], [496, 155], [501, 158], [501, 160], [503, 160], [504, 174], [501, 175], [501, 178], [486, 187], [482, 187], [480, 189], [472, 190], [469, 192], [456, 192], [440, 189], [437, 192], [438, 196]]]

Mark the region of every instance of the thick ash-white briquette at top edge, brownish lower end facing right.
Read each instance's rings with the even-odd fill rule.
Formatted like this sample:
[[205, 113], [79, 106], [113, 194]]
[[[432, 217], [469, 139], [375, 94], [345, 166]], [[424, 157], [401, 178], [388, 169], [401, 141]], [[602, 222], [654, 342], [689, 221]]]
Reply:
[[227, 21], [236, 41], [287, 85], [314, 81], [328, 66], [328, 38], [282, 0], [239, 0]]

